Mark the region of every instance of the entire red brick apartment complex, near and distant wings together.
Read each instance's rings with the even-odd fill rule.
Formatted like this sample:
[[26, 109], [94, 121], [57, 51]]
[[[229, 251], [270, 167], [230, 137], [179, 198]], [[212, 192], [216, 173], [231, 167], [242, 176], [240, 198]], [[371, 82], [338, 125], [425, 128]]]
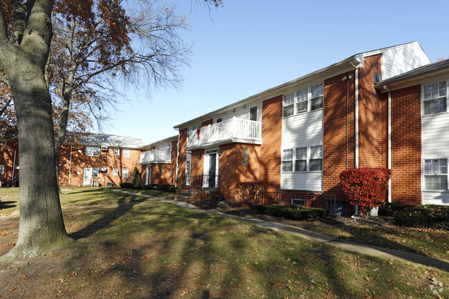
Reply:
[[[388, 200], [449, 205], [448, 88], [449, 59], [431, 64], [416, 41], [363, 52], [178, 124], [178, 135], [147, 146], [65, 144], [59, 178], [116, 185], [139, 164], [142, 184], [225, 200], [251, 180], [291, 198], [336, 198], [342, 171], [379, 166], [392, 169]], [[3, 184], [17, 165], [12, 155], [0, 156]]]

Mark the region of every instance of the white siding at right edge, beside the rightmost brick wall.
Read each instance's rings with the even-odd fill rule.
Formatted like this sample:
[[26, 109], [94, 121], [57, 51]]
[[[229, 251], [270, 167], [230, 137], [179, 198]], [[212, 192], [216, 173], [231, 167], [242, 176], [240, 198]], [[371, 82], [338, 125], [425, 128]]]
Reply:
[[[428, 114], [424, 113], [424, 102], [429, 95], [433, 94], [434, 98], [437, 98], [442, 95], [440, 93], [442, 87], [440, 82], [446, 82], [446, 97], [447, 97], [447, 88], [448, 88], [448, 80], [441, 80], [437, 82], [433, 82], [430, 84], [424, 84], [422, 86], [422, 106], [423, 106], [423, 117], [422, 117], [422, 204], [444, 204], [449, 205], [449, 190], [448, 189], [448, 175], [447, 175], [447, 161], [449, 158], [449, 113], [447, 111], [442, 113]], [[433, 84], [438, 84], [438, 86], [433, 86], [433, 88], [428, 88], [428, 94], [424, 95], [424, 86], [429, 86]], [[438, 88], [437, 88], [438, 87]], [[429, 94], [430, 93], [430, 94]], [[439, 162], [430, 162], [438, 160]], [[446, 161], [446, 169], [442, 167], [440, 164], [441, 160]], [[427, 167], [426, 167], [426, 161]], [[444, 163], [444, 162], [442, 162]], [[426, 173], [429, 171], [437, 172], [439, 171], [437, 167], [441, 168], [440, 171], [446, 171], [446, 173]], [[432, 178], [430, 178], [432, 177]], [[446, 180], [445, 180], [446, 178]], [[439, 190], [430, 190], [431, 188], [441, 188]]]

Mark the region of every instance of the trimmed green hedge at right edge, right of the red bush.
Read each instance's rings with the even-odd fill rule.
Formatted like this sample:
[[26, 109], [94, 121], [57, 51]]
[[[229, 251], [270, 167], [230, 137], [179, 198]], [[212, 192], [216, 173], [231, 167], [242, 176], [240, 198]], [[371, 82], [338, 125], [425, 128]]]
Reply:
[[449, 206], [411, 206], [397, 211], [394, 222], [420, 229], [449, 230]]

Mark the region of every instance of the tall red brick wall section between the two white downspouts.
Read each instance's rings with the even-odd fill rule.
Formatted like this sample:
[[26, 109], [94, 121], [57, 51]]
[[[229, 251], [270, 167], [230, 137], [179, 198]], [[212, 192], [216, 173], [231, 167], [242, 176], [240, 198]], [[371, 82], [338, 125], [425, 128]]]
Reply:
[[365, 57], [359, 68], [359, 167], [387, 167], [388, 102], [374, 88], [381, 55]]

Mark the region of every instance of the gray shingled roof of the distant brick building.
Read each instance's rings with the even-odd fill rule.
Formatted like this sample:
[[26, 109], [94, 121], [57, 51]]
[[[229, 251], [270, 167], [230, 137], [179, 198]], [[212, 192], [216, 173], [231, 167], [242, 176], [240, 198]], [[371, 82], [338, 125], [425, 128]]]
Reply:
[[[67, 137], [68, 143], [70, 142], [70, 137]], [[96, 145], [102, 146], [106, 145], [109, 147], [120, 147], [120, 148], [143, 148], [145, 143], [142, 139], [138, 137], [130, 136], [120, 136], [120, 135], [106, 135], [106, 134], [93, 134], [88, 133], [87, 136], [80, 137], [77, 144], [83, 145]]]

